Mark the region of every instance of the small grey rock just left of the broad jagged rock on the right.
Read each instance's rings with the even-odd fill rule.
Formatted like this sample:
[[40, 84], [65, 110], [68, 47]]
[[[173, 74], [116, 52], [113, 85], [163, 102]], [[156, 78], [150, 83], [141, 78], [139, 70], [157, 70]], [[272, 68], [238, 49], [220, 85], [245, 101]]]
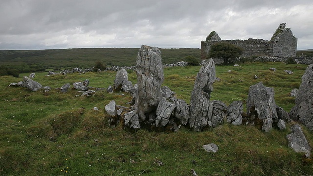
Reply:
[[227, 122], [232, 125], [241, 125], [243, 121], [243, 102], [233, 101], [226, 109]]

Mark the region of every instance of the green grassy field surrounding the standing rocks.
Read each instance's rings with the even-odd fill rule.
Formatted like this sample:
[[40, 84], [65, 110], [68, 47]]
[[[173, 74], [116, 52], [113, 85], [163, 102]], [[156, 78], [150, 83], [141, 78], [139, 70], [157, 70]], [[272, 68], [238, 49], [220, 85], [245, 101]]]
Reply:
[[[249, 87], [260, 81], [273, 87], [276, 104], [286, 111], [294, 106], [288, 94], [298, 88], [307, 65], [285, 63], [245, 63], [241, 67], [216, 66], [221, 81], [213, 84], [211, 100], [229, 105], [245, 103]], [[273, 72], [269, 68], [276, 68]], [[164, 86], [176, 96], [190, 101], [195, 77], [201, 66], [165, 68]], [[228, 70], [232, 70], [228, 72]], [[288, 75], [284, 70], [291, 70]], [[34, 78], [48, 93], [7, 87], [22, 78], [0, 77], [0, 175], [3, 176], [309, 176], [312, 159], [288, 148], [288, 129], [266, 133], [254, 126], [227, 123], [203, 132], [181, 128], [179, 132], [133, 131], [120, 123], [110, 127], [104, 106], [111, 100], [128, 106], [129, 94], [98, 91], [93, 97], [76, 97], [76, 90], [61, 94], [63, 84], [90, 80], [89, 86], [113, 85], [116, 72], [88, 72], [67, 76]], [[25, 75], [29, 75], [28, 73]], [[257, 75], [259, 79], [254, 79]], [[129, 74], [136, 83], [136, 73]], [[93, 107], [100, 110], [94, 111]], [[311, 146], [313, 132], [303, 127]], [[202, 145], [215, 143], [217, 153], [207, 153]], [[162, 162], [162, 164], [160, 164]]]

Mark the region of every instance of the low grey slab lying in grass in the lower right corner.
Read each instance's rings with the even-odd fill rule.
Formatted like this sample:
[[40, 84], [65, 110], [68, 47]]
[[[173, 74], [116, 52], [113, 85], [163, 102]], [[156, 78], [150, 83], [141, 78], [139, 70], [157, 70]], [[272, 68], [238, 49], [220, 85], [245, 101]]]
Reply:
[[304, 152], [311, 154], [311, 146], [309, 145], [300, 125], [296, 124], [291, 127], [291, 134], [286, 137], [288, 139], [288, 147], [293, 149], [295, 152]]

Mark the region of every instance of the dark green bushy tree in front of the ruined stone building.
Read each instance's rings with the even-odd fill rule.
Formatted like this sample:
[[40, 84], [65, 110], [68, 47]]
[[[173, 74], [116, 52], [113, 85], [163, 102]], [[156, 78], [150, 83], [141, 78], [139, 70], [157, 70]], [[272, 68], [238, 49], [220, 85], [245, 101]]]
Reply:
[[239, 46], [227, 42], [218, 42], [211, 45], [209, 57], [222, 58], [224, 63], [229, 62], [229, 58], [236, 58], [242, 55], [243, 49]]

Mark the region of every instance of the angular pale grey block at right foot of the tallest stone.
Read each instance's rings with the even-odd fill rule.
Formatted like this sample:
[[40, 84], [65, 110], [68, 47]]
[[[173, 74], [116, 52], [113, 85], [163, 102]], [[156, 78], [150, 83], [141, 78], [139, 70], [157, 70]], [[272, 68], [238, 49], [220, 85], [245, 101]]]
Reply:
[[156, 109], [156, 127], [161, 124], [161, 126], [167, 125], [170, 117], [175, 109], [175, 104], [166, 101], [166, 98], [162, 97]]

